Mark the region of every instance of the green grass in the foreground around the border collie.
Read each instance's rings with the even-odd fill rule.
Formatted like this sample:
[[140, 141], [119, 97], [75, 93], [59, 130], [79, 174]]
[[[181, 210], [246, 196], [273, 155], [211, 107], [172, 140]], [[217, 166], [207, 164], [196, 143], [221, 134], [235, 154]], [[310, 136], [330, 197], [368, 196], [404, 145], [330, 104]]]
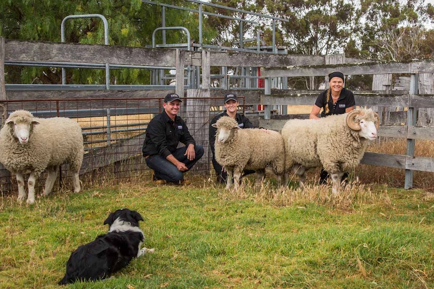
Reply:
[[119, 208], [143, 216], [144, 246], [156, 252], [67, 288], [434, 287], [434, 198], [384, 186], [342, 196], [324, 186], [248, 183], [233, 194], [143, 182], [57, 192], [34, 206], [3, 197], [0, 287], [59, 287], [70, 252], [105, 233]]

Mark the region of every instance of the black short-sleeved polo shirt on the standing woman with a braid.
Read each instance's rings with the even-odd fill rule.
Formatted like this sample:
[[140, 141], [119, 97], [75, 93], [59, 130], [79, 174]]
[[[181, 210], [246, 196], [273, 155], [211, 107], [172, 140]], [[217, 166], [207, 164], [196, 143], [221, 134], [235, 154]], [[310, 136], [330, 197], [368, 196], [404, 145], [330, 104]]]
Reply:
[[355, 106], [354, 94], [351, 90], [346, 88], [342, 88], [340, 91], [339, 99], [333, 104], [333, 99], [330, 94], [329, 100], [329, 113], [326, 115], [325, 106], [327, 99], [327, 90], [324, 90], [318, 95], [318, 98], [315, 102], [315, 105], [319, 108], [322, 108], [321, 117], [329, 116], [329, 115], [341, 115], [345, 113], [345, 109]]

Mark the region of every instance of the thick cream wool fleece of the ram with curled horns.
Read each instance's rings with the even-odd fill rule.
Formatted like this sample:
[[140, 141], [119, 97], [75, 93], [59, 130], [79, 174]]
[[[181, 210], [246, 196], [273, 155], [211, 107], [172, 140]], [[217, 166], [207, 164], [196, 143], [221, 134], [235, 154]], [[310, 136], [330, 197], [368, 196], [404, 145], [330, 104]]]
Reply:
[[[361, 119], [376, 121], [372, 110], [362, 110]], [[361, 138], [357, 131], [346, 124], [346, 116], [331, 115], [319, 120], [290, 120], [281, 134], [285, 142], [285, 171], [294, 164], [306, 169], [323, 166], [329, 173], [350, 171], [360, 163], [369, 140]]]

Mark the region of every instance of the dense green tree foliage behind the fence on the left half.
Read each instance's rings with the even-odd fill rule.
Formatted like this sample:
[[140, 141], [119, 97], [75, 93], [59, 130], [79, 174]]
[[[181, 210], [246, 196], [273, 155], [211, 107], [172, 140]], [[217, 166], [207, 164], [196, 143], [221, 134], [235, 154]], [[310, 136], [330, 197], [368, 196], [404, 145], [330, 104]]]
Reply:
[[[184, 1], [167, 1], [185, 6]], [[101, 14], [108, 22], [109, 44], [144, 47], [152, 44], [152, 34], [162, 26], [161, 7], [141, 0], [6, 0], [0, 1], [0, 35], [8, 39], [58, 41], [60, 26], [68, 15]], [[197, 15], [189, 11], [166, 9], [166, 26], [184, 26], [198, 34]], [[206, 37], [209, 29], [204, 29]], [[162, 43], [162, 32], [156, 43]], [[65, 23], [66, 42], [104, 44], [104, 24], [99, 18], [69, 19]], [[186, 42], [183, 32], [166, 32], [167, 43]], [[146, 63], [143, 63], [146, 65]], [[60, 68], [7, 66], [8, 83], [61, 83]], [[149, 71], [111, 69], [112, 84], [147, 84]], [[67, 69], [67, 83], [103, 84], [103, 69]]]

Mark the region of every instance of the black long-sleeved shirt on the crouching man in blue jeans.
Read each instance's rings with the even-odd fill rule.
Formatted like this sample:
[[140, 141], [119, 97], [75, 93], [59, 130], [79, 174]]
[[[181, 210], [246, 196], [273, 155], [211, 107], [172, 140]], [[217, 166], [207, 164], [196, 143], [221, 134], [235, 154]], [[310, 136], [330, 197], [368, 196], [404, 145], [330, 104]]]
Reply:
[[151, 120], [146, 129], [143, 156], [159, 154], [166, 158], [176, 150], [179, 142], [186, 146], [196, 145], [185, 122], [178, 116], [175, 116], [175, 121], [172, 121], [163, 111]]

